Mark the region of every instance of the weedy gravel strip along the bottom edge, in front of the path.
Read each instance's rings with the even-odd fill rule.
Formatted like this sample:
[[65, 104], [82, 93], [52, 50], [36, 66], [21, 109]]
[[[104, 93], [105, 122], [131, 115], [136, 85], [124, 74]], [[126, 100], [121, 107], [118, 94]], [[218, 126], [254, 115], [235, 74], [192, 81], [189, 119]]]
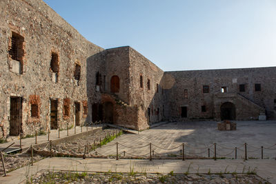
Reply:
[[267, 183], [255, 174], [136, 174], [41, 171], [29, 183]]

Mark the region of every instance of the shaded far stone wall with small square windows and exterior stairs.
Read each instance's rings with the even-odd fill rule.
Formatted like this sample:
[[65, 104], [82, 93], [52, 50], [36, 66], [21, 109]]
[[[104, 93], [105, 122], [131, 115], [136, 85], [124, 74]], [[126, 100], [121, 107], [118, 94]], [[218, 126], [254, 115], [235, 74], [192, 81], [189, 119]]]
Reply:
[[[219, 120], [220, 105], [232, 101], [237, 108], [237, 119], [257, 119], [257, 115], [264, 111], [268, 119], [275, 119], [275, 70], [275, 67], [270, 67], [165, 72], [168, 104], [165, 116], [181, 119], [181, 107], [186, 106], [188, 117], [184, 120]], [[255, 83], [261, 84], [261, 91], [255, 91]], [[240, 84], [245, 85], [245, 92], [240, 92]], [[209, 86], [208, 93], [203, 92], [203, 85]], [[227, 92], [221, 93], [221, 87], [226, 87]], [[188, 90], [188, 98], [184, 97], [185, 89]], [[201, 112], [202, 105], [205, 105], [206, 112]]]

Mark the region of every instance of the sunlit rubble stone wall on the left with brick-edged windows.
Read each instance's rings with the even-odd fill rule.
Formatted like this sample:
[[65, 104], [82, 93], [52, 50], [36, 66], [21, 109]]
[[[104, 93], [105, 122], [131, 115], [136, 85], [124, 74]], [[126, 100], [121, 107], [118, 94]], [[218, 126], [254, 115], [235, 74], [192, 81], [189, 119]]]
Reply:
[[[20, 5], [20, 6], [19, 6]], [[10, 96], [21, 96], [22, 131], [47, 131], [50, 123], [50, 99], [59, 99], [58, 122], [65, 128], [74, 123], [74, 102], [87, 101], [86, 59], [103, 49], [84, 39], [43, 1], [0, 1], [0, 137], [10, 132]], [[23, 38], [21, 58], [12, 59], [12, 34]], [[52, 53], [58, 56], [59, 70], [52, 71]], [[81, 65], [79, 81], [74, 78], [75, 63]], [[57, 72], [57, 83], [55, 83]], [[39, 99], [39, 116], [30, 117], [32, 97]], [[70, 117], [63, 118], [63, 99], [70, 99]], [[83, 105], [81, 103], [81, 114]], [[81, 123], [86, 121], [82, 118]]]

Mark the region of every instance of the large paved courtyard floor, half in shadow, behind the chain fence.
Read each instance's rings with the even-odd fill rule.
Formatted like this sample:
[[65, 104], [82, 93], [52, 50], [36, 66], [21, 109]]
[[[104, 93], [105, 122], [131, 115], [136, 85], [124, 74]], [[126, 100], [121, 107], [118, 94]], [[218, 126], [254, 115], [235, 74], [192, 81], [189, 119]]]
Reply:
[[[177, 155], [184, 143], [186, 156], [214, 156], [216, 143], [217, 157], [235, 159], [245, 158], [245, 143], [248, 159], [275, 159], [276, 121], [235, 121], [237, 130], [219, 131], [215, 121], [190, 121], [166, 123], [139, 134], [124, 134], [117, 141], [119, 154], [124, 151], [130, 156], [149, 156], [150, 146], [155, 156]], [[105, 156], [116, 154], [115, 141], [96, 151]], [[165, 149], [163, 149], [165, 148]], [[175, 148], [175, 149], [174, 149]]]

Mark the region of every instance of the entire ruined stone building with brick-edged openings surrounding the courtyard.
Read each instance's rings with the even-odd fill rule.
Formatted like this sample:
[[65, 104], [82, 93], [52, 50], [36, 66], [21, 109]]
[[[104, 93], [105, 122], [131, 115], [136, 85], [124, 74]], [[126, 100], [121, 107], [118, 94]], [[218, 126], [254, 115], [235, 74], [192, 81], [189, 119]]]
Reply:
[[164, 72], [103, 49], [41, 0], [0, 1], [0, 138], [91, 122], [275, 119], [276, 68]]

